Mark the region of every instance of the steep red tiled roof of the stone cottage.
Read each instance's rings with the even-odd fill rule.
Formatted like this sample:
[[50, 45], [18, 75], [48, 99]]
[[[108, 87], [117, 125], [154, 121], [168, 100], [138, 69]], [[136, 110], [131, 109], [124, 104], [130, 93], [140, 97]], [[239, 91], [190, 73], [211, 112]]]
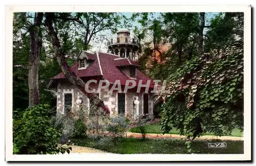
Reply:
[[[120, 59], [119, 56], [109, 53], [98, 52], [94, 54], [89, 54], [86, 52], [87, 56], [90, 55], [90, 59], [94, 61], [86, 69], [78, 69], [78, 63], [76, 62], [72, 67], [73, 71], [78, 77], [87, 76], [102, 76], [104, 79], [108, 80], [111, 84], [114, 84], [116, 80], [120, 80], [121, 85], [125, 85], [126, 80], [135, 80], [138, 86], [139, 80], [142, 80], [142, 84], [145, 85], [147, 80], [151, 80], [150, 88], [154, 88], [153, 79], [147, 77], [140, 70], [136, 69], [136, 79], [130, 78], [120, 69], [118, 66], [125, 65], [135, 65], [139, 66], [136, 62], [128, 60], [127, 58]], [[115, 60], [116, 59], [116, 60]], [[100, 65], [99, 65], [100, 64]], [[102, 72], [102, 73], [101, 73]], [[53, 77], [53, 79], [65, 78], [65, 75], [61, 72], [60, 74]]]

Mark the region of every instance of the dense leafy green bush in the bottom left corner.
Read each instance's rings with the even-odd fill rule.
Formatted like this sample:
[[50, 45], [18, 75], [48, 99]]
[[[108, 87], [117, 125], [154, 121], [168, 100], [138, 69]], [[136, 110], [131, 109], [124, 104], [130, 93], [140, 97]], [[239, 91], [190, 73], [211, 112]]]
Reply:
[[20, 119], [14, 120], [14, 153], [57, 154], [68, 151], [69, 147], [58, 145], [61, 134], [50, 122], [49, 105], [27, 108]]

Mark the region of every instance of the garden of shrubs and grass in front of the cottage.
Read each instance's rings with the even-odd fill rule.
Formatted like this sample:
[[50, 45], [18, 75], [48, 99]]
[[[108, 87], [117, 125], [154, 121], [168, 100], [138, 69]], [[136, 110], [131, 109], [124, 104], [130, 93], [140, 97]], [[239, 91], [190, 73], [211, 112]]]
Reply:
[[[48, 105], [15, 114], [20, 116], [14, 121], [14, 154], [72, 153], [74, 145], [117, 154], [243, 153], [243, 141], [225, 141], [227, 147], [220, 149], [208, 148], [208, 143], [221, 140], [148, 139], [145, 133], [159, 132], [159, 122], [147, 124], [149, 119], [142, 116], [129, 121], [124, 116], [105, 116], [100, 109], [91, 115], [82, 105], [68, 115], [51, 114]], [[140, 133], [141, 137], [126, 137], [129, 130]]]

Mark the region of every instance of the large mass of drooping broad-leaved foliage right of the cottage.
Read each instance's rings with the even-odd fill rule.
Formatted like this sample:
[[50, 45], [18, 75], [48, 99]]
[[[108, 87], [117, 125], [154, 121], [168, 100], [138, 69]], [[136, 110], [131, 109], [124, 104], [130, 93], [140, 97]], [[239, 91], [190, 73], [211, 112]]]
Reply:
[[187, 61], [168, 78], [161, 97], [162, 129], [223, 135], [243, 128], [243, 44], [234, 43]]

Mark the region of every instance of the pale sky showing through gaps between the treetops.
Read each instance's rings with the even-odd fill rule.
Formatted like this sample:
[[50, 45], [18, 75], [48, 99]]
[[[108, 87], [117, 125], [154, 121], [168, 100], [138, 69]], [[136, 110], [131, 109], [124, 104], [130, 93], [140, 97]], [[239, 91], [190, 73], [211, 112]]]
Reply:
[[[126, 16], [127, 18], [131, 18], [132, 17], [132, 14], [133, 13], [121, 13], [121, 14], [123, 14], [124, 16]], [[209, 25], [209, 21], [210, 21], [210, 19], [212, 18], [212, 17], [215, 17], [215, 15], [218, 15], [219, 13], [205, 13], [205, 24], [206, 25]], [[157, 18], [157, 17], [159, 17], [160, 16], [160, 13], [153, 13], [153, 16], [152, 17], [149, 17], [150, 19], [154, 19], [154, 18]], [[137, 21], [135, 21], [135, 22], [133, 22], [132, 23], [132, 30], [135, 28], [135, 26], [137, 26], [139, 29], [141, 28], [141, 25], [140, 25], [140, 23], [138, 23]], [[207, 29], [204, 29], [204, 33], [207, 31]], [[132, 31], [130, 31], [131, 32], [131, 37], [133, 36], [133, 32]], [[112, 34], [111, 33], [111, 31], [110, 30], [106, 30], [106, 31], [104, 31], [104, 32], [101, 32], [101, 34], [105, 34], [105, 35], [107, 35], [107, 36], [109, 36], [110, 37], [110, 39], [111, 38], [116, 38], [116, 34]], [[109, 39], [109, 40], [110, 40]], [[147, 37], [147, 39], [150, 39], [150, 37], [148, 36]], [[107, 47], [107, 45], [106, 45], [106, 42], [107, 41], [103, 41], [103, 42], [101, 42], [101, 43], [99, 43], [99, 42], [94, 42], [94, 41], [92, 41], [92, 45], [93, 45], [93, 48], [91, 49], [91, 51], [101, 51], [101, 52], [107, 52], [108, 51], [108, 47]]]

